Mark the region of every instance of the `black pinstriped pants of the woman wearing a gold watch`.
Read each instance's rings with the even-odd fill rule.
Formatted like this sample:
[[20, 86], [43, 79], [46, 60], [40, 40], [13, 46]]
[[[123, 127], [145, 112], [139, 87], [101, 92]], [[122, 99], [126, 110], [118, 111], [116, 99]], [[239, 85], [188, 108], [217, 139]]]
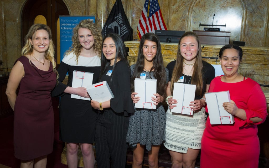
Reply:
[[128, 144], [126, 134], [129, 116], [117, 115], [112, 110], [98, 114], [95, 130], [95, 150], [98, 168], [124, 168]]

